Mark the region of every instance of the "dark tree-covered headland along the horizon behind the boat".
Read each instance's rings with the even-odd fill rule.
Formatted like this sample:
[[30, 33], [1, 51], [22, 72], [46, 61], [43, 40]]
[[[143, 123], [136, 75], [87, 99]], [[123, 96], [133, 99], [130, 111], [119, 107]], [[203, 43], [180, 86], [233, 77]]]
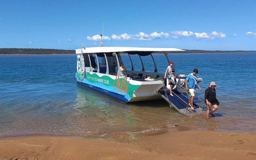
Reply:
[[[187, 50], [172, 53], [250, 53], [255, 50]], [[0, 54], [76, 54], [75, 50], [42, 48], [0, 48]]]

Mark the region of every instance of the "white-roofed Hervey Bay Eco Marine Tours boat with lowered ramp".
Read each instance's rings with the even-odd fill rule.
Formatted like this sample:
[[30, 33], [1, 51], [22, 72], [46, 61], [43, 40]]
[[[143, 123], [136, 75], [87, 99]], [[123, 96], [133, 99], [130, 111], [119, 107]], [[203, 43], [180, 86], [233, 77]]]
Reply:
[[[138, 48], [138, 47], [91, 47], [76, 49], [77, 83], [108, 94], [125, 102], [144, 101], [164, 98], [175, 109], [185, 109], [188, 112], [188, 98], [184, 96], [186, 75], [175, 75], [176, 85], [173, 97], [169, 96], [169, 84], [164, 85], [164, 73], [159, 73], [152, 53], [164, 53], [169, 64], [168, 53], [184, 51], [177, 48]], [[127, 76], [120, 75], [121, 55], [127, 53], [131, 61], [131, 70]], [[141, 71], [134, 71], [130, 55], [137, 54], [142, 64]], [[141, 56], [151, 56], [154, 72], [146, 72]], [[198, 78], [197, 82], [202, 79]], [[184, 95], [183, 95], [184, 94]], [[183, 102], [182, 102], [183, 101]], [[184, 103], [185, 102], [185, 103]], [[199, 109], [199, 107], [198, 107]]]

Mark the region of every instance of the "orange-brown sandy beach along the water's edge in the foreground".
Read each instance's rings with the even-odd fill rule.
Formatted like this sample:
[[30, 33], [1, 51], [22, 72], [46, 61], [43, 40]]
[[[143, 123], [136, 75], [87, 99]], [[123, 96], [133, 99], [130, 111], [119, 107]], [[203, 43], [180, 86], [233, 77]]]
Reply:
[[138, 134], [119, 141], [46, 136], [1, 138], [0, 159], [256, 159], [256, 133], [188, 130]]

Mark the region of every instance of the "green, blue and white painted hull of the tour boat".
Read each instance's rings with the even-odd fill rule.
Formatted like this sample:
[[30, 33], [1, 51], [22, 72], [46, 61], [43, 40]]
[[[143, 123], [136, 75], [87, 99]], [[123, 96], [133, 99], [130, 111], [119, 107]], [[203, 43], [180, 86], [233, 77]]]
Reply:
[[136, 81], [130, 78], [86, 72], [86, 78], [77, 77], [77, 83], [104, 94], [118, 98], [124, 102], [160, 99], [158, 90], [161, 81]]

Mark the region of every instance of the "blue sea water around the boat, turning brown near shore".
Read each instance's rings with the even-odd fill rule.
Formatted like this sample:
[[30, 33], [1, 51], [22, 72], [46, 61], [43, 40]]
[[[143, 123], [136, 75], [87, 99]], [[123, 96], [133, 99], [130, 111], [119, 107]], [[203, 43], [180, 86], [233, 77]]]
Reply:
[[[153, 55], [159, 72], [167, 68], [163, 54]], [[140, 59], [132, 55], [135, 70]], [[150, 56], [142, 57], [153, 71]], [[131, 64], [122, 55], [124, 65]], [[177, 74], [198, 68], [207, 89], [215, 81], [220, 101], [215, 118], [186, 117], [164, 100], [125, 104], [76, 84], [76, 55], [0, 55], [0, 137], [64, 135], [104, 137], [183, 126], [204, 130], [255, 132], [256, 53], [169, 54]], [[199, 94], [199, 97], [203, 94]]]

